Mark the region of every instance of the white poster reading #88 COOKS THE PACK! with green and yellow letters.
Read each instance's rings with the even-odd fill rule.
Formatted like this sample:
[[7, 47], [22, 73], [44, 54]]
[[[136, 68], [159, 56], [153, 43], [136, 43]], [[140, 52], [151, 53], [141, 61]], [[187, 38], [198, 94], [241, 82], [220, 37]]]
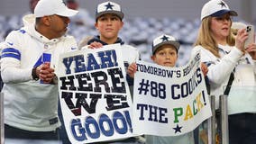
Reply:
[[212, 115], [200, 54], [184, 67], [137, 61], [133, 87], [133, 132], [178, 136]]

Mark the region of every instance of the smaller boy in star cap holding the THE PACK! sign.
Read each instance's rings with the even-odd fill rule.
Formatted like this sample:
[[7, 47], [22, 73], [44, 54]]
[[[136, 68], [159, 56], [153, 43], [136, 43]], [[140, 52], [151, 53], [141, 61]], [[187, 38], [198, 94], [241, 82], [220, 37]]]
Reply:
[[[163, 34], [157, 37], [152, 42], [152, 56], [151, 59], [153, 62], [160, 66], [165, 67], [175, 67], [178, 60], [178, 49], [179, 42], [174, 37]], [[201, 65], [204, 75], [207, 73], [206, 65]], [[133, 63], [128, 67], [128, 74], [131, 77], [134, 77], [136, 72], [137, 65]], [[160, 137], [160, 136], [146, 136], [146, 143], [154, 144], [194, 144], [193, 132], [175, 137]]]

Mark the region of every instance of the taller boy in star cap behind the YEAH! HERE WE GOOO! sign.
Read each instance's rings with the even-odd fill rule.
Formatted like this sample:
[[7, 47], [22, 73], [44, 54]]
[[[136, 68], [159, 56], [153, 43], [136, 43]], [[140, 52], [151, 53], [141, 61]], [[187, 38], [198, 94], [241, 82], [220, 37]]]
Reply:
[[[125, 45], [123, 40], [118, 37], [119, 31], [123, 28], [123, 12], [120, 4], [116, 4], [111, 1], [107, 1], [98, 4], [96, 7], [96, 30], [98, 35], [92, 39], [87, 40], [87, 46], [82, 49], [99, 49], [105, 45], [120, 43], [123, 55], [123, 64], [125, 69], [129, 64], [133, 63], [140, 58], [139, 51], [130, 45]], [[84, 43], [85, 41], [80, 41]], [[133, 89], [133, 78], [126, 76], [126, 80], [130, 89]], [[133, 91], [131, 91], [132, 93]], [[133, 95], [133, 94], [131, 94]], [[133, 98], [133, 97], [132, 97]], [[139, 137], [132, 137], [128, 139], [118, 139], [113, 141], [100, 142], [101, 144], [110, 143], [140, 143]]]

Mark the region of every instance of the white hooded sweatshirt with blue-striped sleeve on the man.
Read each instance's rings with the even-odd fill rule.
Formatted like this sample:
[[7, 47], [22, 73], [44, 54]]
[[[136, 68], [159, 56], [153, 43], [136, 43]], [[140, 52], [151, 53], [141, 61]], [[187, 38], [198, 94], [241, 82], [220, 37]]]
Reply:
[[50, 61], [58, 63], [59, 54], [77, 49], [71, 36], [49, 40], [34, 29], [34, 15], [23, 18], [24, 27], [12, 31], [2, 50], [1, 75], [5, 83], [5, 124], [32, 131], [56, 130], [58, 85], [32, 80], [32, 68]]

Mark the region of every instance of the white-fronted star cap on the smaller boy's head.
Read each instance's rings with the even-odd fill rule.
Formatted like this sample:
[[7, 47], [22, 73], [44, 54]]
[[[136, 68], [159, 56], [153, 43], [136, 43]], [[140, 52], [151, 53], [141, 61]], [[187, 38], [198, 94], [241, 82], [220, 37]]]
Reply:
[[178, 40], [176, 40], [174, 37], [172, 37], [170, 35], [167, 35], [167, 34], [163, 34], [163, 35], [160, 35], [159, 37], [157, 37], [156, 39], [153, 40], [152, 53], [154, 54], [155, 51], [157, 49], [159, 49], [160, 46], [162, 46], [164, 44], [173, 45], [177, 49], [177, 51], [178, 51], [179, 46], [180, 46]]

